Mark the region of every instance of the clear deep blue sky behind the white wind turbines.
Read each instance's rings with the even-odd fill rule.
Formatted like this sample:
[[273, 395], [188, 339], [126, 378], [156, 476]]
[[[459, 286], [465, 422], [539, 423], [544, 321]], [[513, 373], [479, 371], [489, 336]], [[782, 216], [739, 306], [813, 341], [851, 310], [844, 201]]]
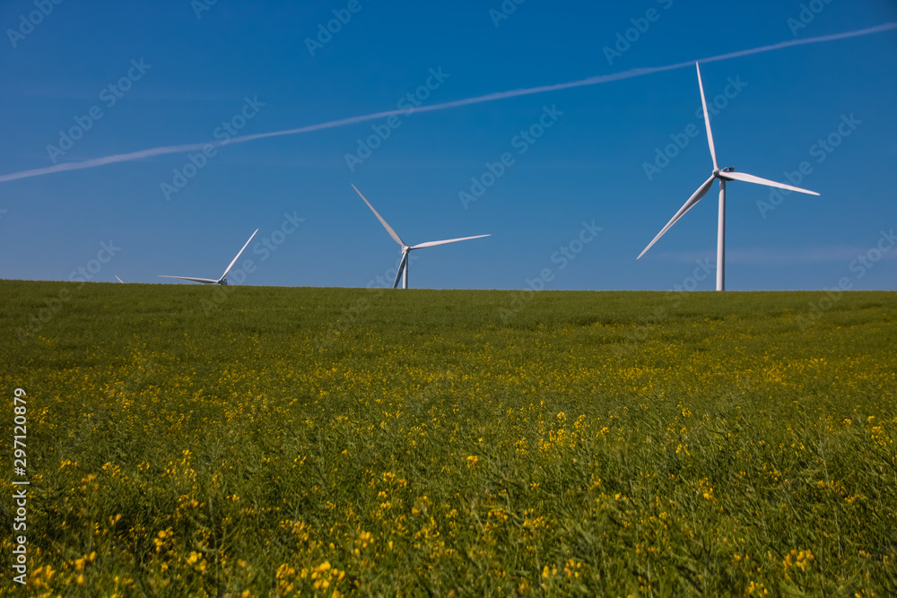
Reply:
[[[0, 178], [213, 142], [228, 126], [264, 134], [407, 108], [409, 93], [431, 106], [897, 22], [888, 0], [613, 4], [508, 0], [500, 13], [501, 0], [11, 0], [0, 5]], [[337, 31], [318, 37], [328, 22]], [[727, 288], [822, 289], [845, 278], [897, 288], [897, 247], [883, 235], [897, 227], [897, 30], [701, 72], [721, 107], [720, 166], [788, 182], [806, 162], [800, 186], [822, 194], [774, 204], [766, 187], [730, 183]], [[66, 280], [99, 254], [93, 280], [217, 278], [258, 228], [243, 256], [254, 266], [247, 284], [376, 284], [399, 247], [354, 184], [406, 242], [492, 234], [415, 252], [413, 287], [710, 290], [716, 188], [635, 259], [710, 175], [699, 107], [688, 66], [403, 113], [392, 126], [383, 117], [233, 143], [211, 157], [172, 152], [9, 180], [0, 277]], [[551, 125], [540, 137], [521, 135], [540, 120]], [[689, 137], [690, 126], [700, 134]], [[80, 138], [61, 139], [73, 127]], [[374, 127], [389, 134], [369, 144]], [[830, 137], [836, 147], [819, 144]], [[359, 140], [379, 147], [359, 153]], [[684, 147], [656, 162], [675, 140]], [[350, 165], [347, 154], [364, 159]], [[187, 166], [191, 155], [201, 168]], [[459, 197], [487, 163], [501, 172], [503, 155], [481, 196]], [[179, 180], [185, 167], [194, 176]], [[111, 254], [101, 246], [110, 240]]]

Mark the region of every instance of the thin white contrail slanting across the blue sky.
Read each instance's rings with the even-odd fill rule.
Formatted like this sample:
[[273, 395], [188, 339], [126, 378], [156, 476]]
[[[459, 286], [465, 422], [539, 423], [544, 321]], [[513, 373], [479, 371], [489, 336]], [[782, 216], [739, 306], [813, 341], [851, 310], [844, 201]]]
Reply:
[[184, 145], [168, 145], [163, 147], [155, 147], [149, 150], [141, 150], [139, 152], [130, 152], [130, 153], [119, 153], [112, 156], [106, 156], [105, 158], [94, 158], [92, 160], [83, 160], [80, 162], [66, 162], [65, 164], [57, 164], [55, 166], [48, 166], [43, 169], [31, 169], [31, 170], [22, 170], [22, 172], [13, 172], [12, 174], [2, 175], [0, 176], [0, 183], [6, 183], [13, 180], [18, 180], [20, 178], [30, 178], [30, 177], [40, 177], [43, 175], [52, 174], [54, 172], [64, 172], [65, 170], [81, 170], [81, 169], [92, 169], [98, 166], [105, 166], [106, 164], [115, 164], [117, 162], [128, 162], [131, 160], [142, 160], [144, 158], [152, 158], [153, 156], [162, 156], [170, 153], [184, 153], [184, 152], [198, 152], [201, 151], [206, 145], [210, 143], [216, 147], [220, 147], [222, 145], [228, 145], [231, 143], [246, 143], [249, 141], [256, 141], [257, 139], [267, 139], [269, 137], [280, 137], [283, 135], [294, 135], [294, 134], [302, 134], [302, 133], [311, 133], [313, 131], [321, 131], [324, 129], [332, 129], [337, 126], [348, 126], [354, 125], [356, 123], [363, 123], [369, 120], [377, 120], [379, 118], [392, 117], [396, 115], [406, 115], [416, 112], [434, 112], [436, 110], [447, 110], [448, 108], [460, 108], [462, 106], [470, 106], [472, 104], [482, 104], [483, 102], [495, 101], [495, 100], [507, 100], [509, 98], [518, 98], [520, 96], [528, 96], [534, 95], [536, 93], [545, 93], [548, 91], [561, 91], [561, 90], [569, 90], [575, 87], [586, 87], [588, 85], [599, 85], [601, 83], [608, 83], [614, 81], [622, 81], [623, 79], [631, 79], [633, 77], [640, 77], [646, 74], [655, 74], [662, 73], [665, 71], [673, 71], [678, 68], [684, 68], [685, 66], [691, 66], [695, 62], [718, 62], [720, 60], [729, 60], [731, 58], [739, 58], [741, 56], [751, 56], [752, 54], [762, 54], [763, 52], [772, 52], [774, 50], [779, 50], [782, 48], [790, 48], [792, 46], [806, 46], [808, 44], [820, 44], [828, 41], [835, 41], [838, 39], [849, 39], [849, 38], [858, 38], [864, 35], [872, 35], [874, 33], [881, 33], [883, 31], [894, 30], [897, 29], [897, 22], [888, 22], [882, 25], [876, 25], [875, 27], [869, 27], [867, 29], [861, 29], [856, 31], [846, 31], [844, 33], [835, 33], [832, 35], [823, 35], [817, 38], [807, 38], [807, 39], [792, 39], [790, 41], [783, 41], [778, 44], [772, 44], [771, 46], [762, 46], [761, 48], [753, 48], [748, 50], [739, 50], [737, 52], [730, 52], [728, 54], [720, 54], [718, 56], [710, 56], [707, 58], [701, 58], [697, 61], [690, 60], [688, 62], [681, 62], [675, 65], [666, 65], [666, 66], [650, 66], [646, 68], [633, 68], [629, 71], [623, 71], [622, 73], [615, 74], [602, 74], [595, 77], [588, 77], [588, 79], [581, 79], [579, 81], [567, 82], [567, 83], [556, 83], [554, 85], [543, 85], [540, 87], [530, 87], [527, 89], [519, 89], [512, 91], [500, 91], [497, 93], [489, 93], [482, 96], [476, 96], [475, 98], [467, 98], [466, 100], [454, 100], [443, 102], [441, 104], [432, 104], [431, 106], [423, 106], [421, 108], [414, 109], [406, 109], [406, 110], [386, 110], [384, 112], [375, 112], [373, 114], [363, 115], [361, 117], [349, 117], [349, 118], [341, 118], [339, 120], [331, 120], [326, 123], [319, 123], [318, 125], [309, 125], [309, 126], [300, 126], [295, 129], [285, 129], [283, 131], [272, 131], [270, 133], [259, 133], [259, 134], [251, 134], [251, 135], [242, 135], [240, 137], [232, 137], [228, 142], [204, 142], [204, 143], [187, 143]]

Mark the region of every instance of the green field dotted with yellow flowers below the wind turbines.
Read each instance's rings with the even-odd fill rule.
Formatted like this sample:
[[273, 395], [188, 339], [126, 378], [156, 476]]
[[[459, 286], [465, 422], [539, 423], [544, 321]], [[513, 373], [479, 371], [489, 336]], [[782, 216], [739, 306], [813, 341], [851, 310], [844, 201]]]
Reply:
[[35, 595], [894, 595], [894, 299], [4, 281], [0, 509], [22, 387]]

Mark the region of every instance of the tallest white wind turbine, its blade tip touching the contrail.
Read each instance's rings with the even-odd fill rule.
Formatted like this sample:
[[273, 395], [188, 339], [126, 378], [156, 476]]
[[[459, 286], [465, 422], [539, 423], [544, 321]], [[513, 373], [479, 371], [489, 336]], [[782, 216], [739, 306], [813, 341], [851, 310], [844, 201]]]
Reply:
[[698, 88], [701, 90], [701, 106], [704, 108], [704, 125], [707, 126], [707, 143], [710, 145], [710, 158], [713, 159], [713, 173], [710, 175], [704, 184], [698, 187], [698, 190], [694, 192], [694, 195], [689, 197], [688, 201], [679, 209], [679, 212], [675, 213], [673, 219], [666, 223], [666, 226], [658, 232], [658, 236], [654, 238], [648, 244], [648, 247], [645, 247], [644, 251], [639, 254], [639, 259], [641, 256], [645, 255], [655, 243], [658, 242], [658, 239], [664, 236], [664, 233], [667, 230], [670, 230], [676, 221], [682, 218], [685, 215], [685, 212], [688, 212], [692, 209], [694, 204], [697, 204], [701, 201], [701, 197], [707, 195], [707, 192], [710, 191], [710, 187], [713, 186], [713, 181], [715, 179], [719, 179], [719, 217], [718, 217], [718, 230], [717, 230], [717, 290], [725, 290], [726, 288], [726, 183], [728, 181], [740, 180], [745, 183], [755, 183], [757, 185], [765, 185], [765, 186], [775, 186], [779, 187], [779, 189], [788, 189], [788, 191], [797, 191], [798, 193], [806, 193], [807, 195], [819, 195], [815, 191], [807, 191], [806, 189], [801, 189], [796, 186], [784, 185], [782, 183], [777, 183], [775, 181], [768, 180], [766, 178], [754, 177], [753, 175], [748, 175], [742, 172], [734, 172], [733, 167], [728, 167], [726, 169], [720, 169], [717, 163], [717, 151], [713, 146], [713, 134], [710, 132], [710, 115], [707, 113], [707, 100], [704, 99], [704, 84], [701, 82], [701, 65], [698, 63], [694, 63], [695, 67], [698, 69]]

